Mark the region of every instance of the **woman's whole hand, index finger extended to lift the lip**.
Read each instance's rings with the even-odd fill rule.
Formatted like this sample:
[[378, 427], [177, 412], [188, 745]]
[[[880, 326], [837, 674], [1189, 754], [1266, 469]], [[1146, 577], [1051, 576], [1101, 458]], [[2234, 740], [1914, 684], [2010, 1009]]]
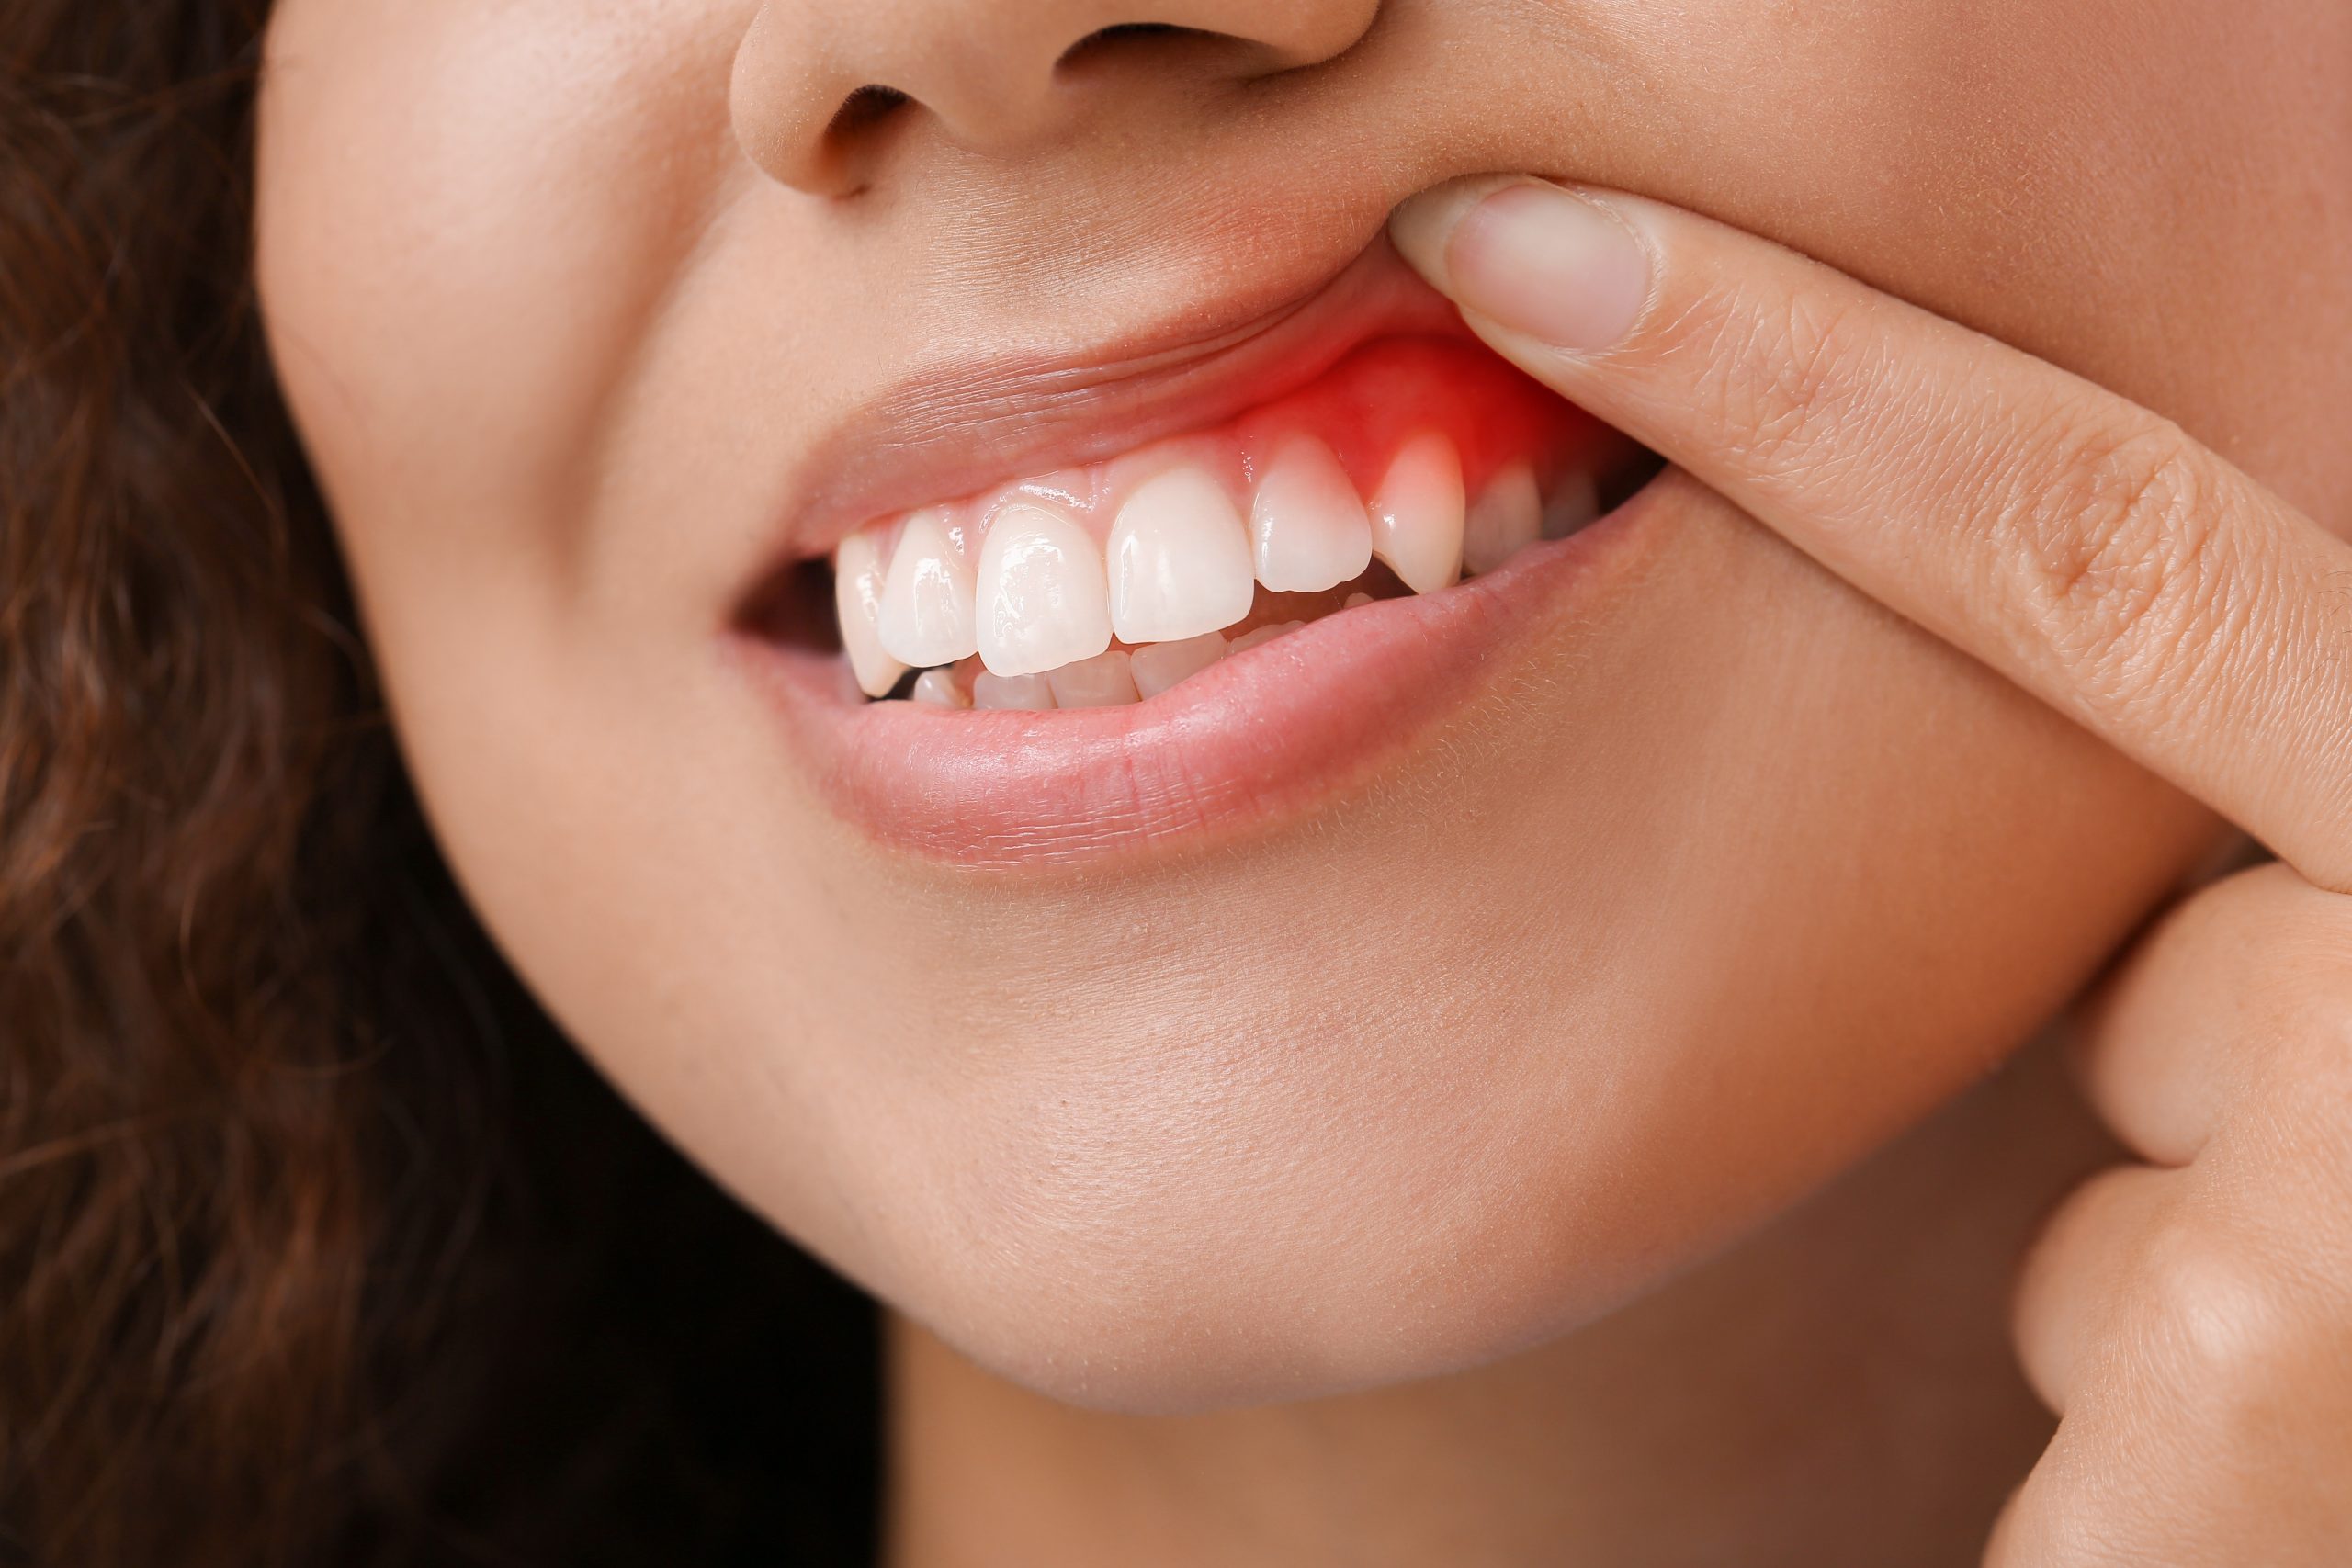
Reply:
[[1484, 179], [1392, 235], [1522, 369], [2281, 858], [2089, 1009], [2145, 1164], [2027, 1258], [2060, 1422], [1987, 1563], [2352, 1563], [2352, 545], [2147, 409], [1658, 202]]

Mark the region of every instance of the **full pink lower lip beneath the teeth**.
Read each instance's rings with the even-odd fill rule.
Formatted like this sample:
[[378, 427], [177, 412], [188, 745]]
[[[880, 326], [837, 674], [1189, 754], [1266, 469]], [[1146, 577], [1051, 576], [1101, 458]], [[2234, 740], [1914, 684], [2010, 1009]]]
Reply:
[[969, 867], [1096, 863], [1268, 832], [1409, 766], [1449, 715], [1557, 651], [1639, 569], [1653, 480], [1592, 527], [1444, 592], [1312, 621], [1124, 708], [868, 703], [837, 656], [729, 637], [790, 759], [870, 839]]

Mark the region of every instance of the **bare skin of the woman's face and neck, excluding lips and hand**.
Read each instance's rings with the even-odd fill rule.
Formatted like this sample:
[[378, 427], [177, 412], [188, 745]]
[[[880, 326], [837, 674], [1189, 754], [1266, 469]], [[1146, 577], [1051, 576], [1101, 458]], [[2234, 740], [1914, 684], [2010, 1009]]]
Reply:
[[[1192, 1497], [1263, 1561], [1376, 1561], [1357, 1533], [1388, 1509], [1345, 1507], [1345, 1453], [1409, 1467], [1390, 1490], [1463, 1561], [1599, 1549], [1635, 1500], [1675, 1505], [1616, 1537], [1656, 1561], [1675, 1530], [1750, 1561], [1973, 1552], [2039, 1441], [1990, 1371], [1997, 1258], [2093, 1135], [2025, 1074], [1886, 1157], [1917, 1187], [1790, 1206], [2058, 1011], [2211, 851], [2206, 806], [1689, 480], [1595, 625], [1531, 637], [1512, 689], [1376, 785], [1091, 872], [861, 839], [720, 628], [826, 430], [906, 376], [1110, 374], [1482, 169], [1792, 244], [2340, 527], [2352, 280], [2305, 259], [2352, 249], [2326, 71], [2352, 21], [1204, 2], [1148, 19], [1237, 42], [1129, 38], [1056, 78], [1145, 16], [844, 12], [287, 0], [259, 237], [402, 745], [489, 929], [670, 1138], [924, 1326], [901, 1556], [1103, 1561], [1068, 1544], [1098, 1526], [1145, 1561], [1134, 1521]], [[870, 80], [910, 103], [818, 136]], [[1917, 1246], [1922, 1192], [1959, 1194], [1971, 1239], [1865, 1267]], [[1743, 1269], [1792, 1305], [1759, 1314]], [[1477, 1418], [1494, 1387], [1515, 1420]], [[1261, 1401], [1291, 1403], [1197, 1420], [1294, 1434], [1258, 1450], [1287, 1455], [1263, 1500], [1176, 1465], [1181, 1422], [1117, 1427], [1127, 1490], [1068, 1462], [1070, 1422], [1134, 1422], [1073, 1403]], [[1000, 1453], [1033, 1462], [997, 1495], [1037, 1507], [990, 1512], [971, 1467], [1009, 1410], [1035, 1441]], [[1722, 1483], [1788, 1460], [1776, 1413], [1851, 1493], [1907, 1495], [1867, 1490], [1889, 1427], [1964, 1460], [1872, 1535]], [[1449, 1434], [1491, 1472], [1428, 1467]], [[1576, 1453], [1646, 1479], [1588, 1465], [1590, 1507], [1536, 1507]], [[924, 1519], [990, 1523], [950, 1547]]]

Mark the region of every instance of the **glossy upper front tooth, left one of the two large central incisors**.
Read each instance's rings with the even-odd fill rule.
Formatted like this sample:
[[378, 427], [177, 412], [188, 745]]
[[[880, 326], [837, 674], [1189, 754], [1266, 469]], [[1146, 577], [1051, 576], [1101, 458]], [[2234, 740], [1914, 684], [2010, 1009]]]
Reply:
[[995, 675], [1040, 675], [1110, 646], [1103, 557], [1087, 529], [1021, 501], [988, 527], [978, 654]]

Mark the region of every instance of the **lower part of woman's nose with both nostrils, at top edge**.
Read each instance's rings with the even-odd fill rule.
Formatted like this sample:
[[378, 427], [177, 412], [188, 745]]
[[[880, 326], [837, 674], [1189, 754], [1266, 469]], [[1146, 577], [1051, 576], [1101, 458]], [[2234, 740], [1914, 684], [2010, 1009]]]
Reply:
[[1343, 54], [1381, 0], [767, 0], [734, 66], [736, 139], [816, 195], [870, 183], [894, 122], [1014, 155], [1136, 92], [1240, 87]]

